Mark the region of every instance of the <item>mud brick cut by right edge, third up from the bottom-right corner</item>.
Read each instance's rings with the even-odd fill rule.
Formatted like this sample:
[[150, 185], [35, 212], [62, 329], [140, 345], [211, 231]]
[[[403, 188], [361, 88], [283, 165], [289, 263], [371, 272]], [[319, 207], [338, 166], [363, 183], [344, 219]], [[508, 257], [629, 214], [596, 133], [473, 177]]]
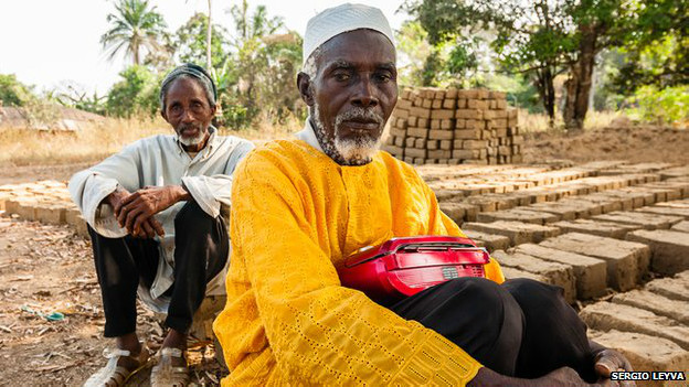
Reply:
[[618, 293], [613, 297], [612, 301], [645, 309], [689, 326], [689, 301], [671, 300], [648, 290], [632, 290], [626, 293]]

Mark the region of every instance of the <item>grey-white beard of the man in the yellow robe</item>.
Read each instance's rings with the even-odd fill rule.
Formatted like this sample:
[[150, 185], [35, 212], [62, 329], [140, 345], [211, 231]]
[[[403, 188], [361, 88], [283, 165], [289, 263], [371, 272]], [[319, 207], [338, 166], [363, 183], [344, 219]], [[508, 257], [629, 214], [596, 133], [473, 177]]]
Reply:
[[354, 107], [351, 110], [339, 114], [335, 117], [335, 131], [333, 138], [326, 137], [326, 127], [320, 119], [320, 109], [318, 104], [314, 105], [314, 123], [316, 125], [315, 131], [319, 139], [320, 146], [324, 152], [328, 154], [336, 162], [344, 165], [362, 165], [371, 161], [381, 144], [382, 130], [378, 137], [361, 136], [354, 139], [342, 139], [341, 128], [342, 122], [351, 119], [367, 119], [375, 120], [382, 129], [385, 120], [380, 115], [375, 114], [373, 109], [364, 109], [362, 107]]

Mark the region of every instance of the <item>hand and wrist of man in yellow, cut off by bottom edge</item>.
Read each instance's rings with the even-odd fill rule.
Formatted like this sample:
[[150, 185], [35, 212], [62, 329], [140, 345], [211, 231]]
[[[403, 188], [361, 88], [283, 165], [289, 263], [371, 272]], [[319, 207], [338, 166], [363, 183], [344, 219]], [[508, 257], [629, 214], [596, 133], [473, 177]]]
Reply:
[[538, 379], [520, 379], [500, 375], [483, 367], [467, 387], [625, 387], [617, 380], [601, 379], [595, 384], [584, 381], [579, 374], [569, 367], [562, 367]]

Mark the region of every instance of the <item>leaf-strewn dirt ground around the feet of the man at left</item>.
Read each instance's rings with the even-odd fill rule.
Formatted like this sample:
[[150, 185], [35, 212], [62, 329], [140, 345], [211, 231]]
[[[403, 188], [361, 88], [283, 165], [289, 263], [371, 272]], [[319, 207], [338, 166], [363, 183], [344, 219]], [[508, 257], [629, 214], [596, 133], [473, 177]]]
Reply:
[[[38, 315], [55, 312], [64, 319]], [[0, 217], [0, 386], [81, 386], [113, 345], [104, 323], [91, 243], [65, 225]], [[142, 308], [138, 332], [150, 348], [160, 346], [162, 327]], [[218, 385], [211, 351], [191, 351], [190, 362], [192, 380]], [[146, 374], [129, 386], [147, 385]]]

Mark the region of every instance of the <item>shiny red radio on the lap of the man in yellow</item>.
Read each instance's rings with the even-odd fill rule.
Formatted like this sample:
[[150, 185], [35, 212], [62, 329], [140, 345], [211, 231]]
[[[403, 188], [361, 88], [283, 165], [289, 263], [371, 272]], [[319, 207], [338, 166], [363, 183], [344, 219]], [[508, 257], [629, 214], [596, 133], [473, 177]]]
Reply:
[[338, 270], [343, 287], [391, 305], [435, 284], [459, 277], [486, 277], [488, 251], [468, 238], [417, 236], [392, 238], [359, 249]]

